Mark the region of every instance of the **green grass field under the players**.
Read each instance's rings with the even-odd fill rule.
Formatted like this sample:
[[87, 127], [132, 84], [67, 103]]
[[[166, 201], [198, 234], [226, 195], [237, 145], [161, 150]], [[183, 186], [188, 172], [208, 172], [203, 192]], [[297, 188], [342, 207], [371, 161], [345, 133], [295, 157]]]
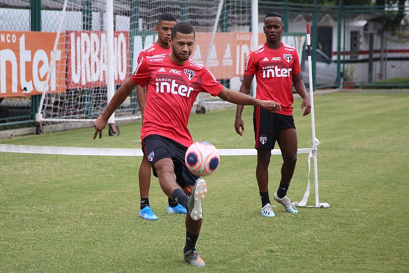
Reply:
[[[310, 116], [294, 102], [299, 147], [311, 142]], [[409, 94], [315, 96], [320, 202], [328, 209], [280, 205], [260, 215], [255, 156], [222, 157], [209, 194], [197, 251], [207, 272], [408, 272]], [[194, 140], [218, 148], [252, 148], [252, 107], [245, 135], [235, 109], [193, 114]], [[140, 123], [119, 137], [93, 140], [79, 129], [1, 139], [3, 144], [140, 148]], [[0, 153], [0, 272], [190, 272], [183, 260], [183, 215], [167, 215], [167, 197], [152, 179], [157, 221], [139, 217], [140, 157]], [[270, 165], [270, 192], [281, 157]], [[298, 157], [288, 195], [301, 201], [307, 155]], [[313, 176], [309, 203], [314, 205]], [[271, 195], [272, 195], [271, 193]]]

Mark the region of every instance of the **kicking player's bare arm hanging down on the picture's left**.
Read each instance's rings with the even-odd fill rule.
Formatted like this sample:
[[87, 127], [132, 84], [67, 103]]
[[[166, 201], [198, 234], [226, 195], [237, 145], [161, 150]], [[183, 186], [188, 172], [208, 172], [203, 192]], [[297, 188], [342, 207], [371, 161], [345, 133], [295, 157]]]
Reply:
[[102, 112], [102, 114], [94, 122], [94, 139], [96, 139], [99, 134], [99, 138], [102, 137], [102, 130], [106, 127], [108, 123], [108, 118], [112, 115], [113, 112], [126, 100], [129, 94], [132, 92], [133, 88], [137, 86], [131, 79], [128, 79], [113, 95], [108, 106]]

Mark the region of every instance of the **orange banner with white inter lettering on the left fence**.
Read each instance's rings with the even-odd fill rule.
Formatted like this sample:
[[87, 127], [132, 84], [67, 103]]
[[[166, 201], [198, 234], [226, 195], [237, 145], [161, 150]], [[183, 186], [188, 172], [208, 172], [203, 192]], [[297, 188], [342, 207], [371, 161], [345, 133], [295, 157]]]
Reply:
[[55, 37], [51, 32], [0, 31], [0, 97], [38, 95], [46, 88], [65, 92], [65, 39], [59, 38], [52, 60]]

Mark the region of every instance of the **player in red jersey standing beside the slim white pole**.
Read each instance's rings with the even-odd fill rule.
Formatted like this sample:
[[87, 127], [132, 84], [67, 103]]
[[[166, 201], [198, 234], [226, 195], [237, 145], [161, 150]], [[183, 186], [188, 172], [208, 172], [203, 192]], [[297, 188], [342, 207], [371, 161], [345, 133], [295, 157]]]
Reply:
[[[297, 163], [297, 133], [292, 116], [294, 85], [297, 93], [303, 98], [301, 111], [303, 116], [311, 111], [311, 103], [305, 85], [301, 79], [301, 68], [296, 48], [281, 42], [284, 31], [281, 15], [268, 14], [264, 19], [266, 42], [253, 49], [245, 61], [244, 78], [240, 92], [248, 94], [250, 85], [256, 75], [256, 97], [261, 100], [274, 100], [281, 104], [281, 110], [275, 113], [264, 111], [256, 106], [253, 123], [257, 149], [256, 177], [261, 197], [261, 215], [274, 217], [268, 195], [268, 165], [271, 149], [275, 143], [280, 146], [283, 157], [281, 181], [274, 200], [282, 204], [287, 212], [297, 213], [297, 208], [287, 197], [294, 169]], [[243, 135], [244, 125], [241, 119], [242, 105], [237, 106], [234, 127], [237, 134]]]

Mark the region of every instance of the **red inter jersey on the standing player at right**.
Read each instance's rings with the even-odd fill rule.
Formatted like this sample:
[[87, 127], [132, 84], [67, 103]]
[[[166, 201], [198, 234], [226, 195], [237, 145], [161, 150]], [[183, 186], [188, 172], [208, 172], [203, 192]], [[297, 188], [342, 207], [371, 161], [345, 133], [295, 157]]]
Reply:
[[300, 73], [297, 49], [281, 42], [279, 49], [271, 49], [265, 43], [253, 49], [247, 56], [244, 74], [256, 75], [256, 97], [281, 104], [279, 114], [292, 115], [292, 74]]

